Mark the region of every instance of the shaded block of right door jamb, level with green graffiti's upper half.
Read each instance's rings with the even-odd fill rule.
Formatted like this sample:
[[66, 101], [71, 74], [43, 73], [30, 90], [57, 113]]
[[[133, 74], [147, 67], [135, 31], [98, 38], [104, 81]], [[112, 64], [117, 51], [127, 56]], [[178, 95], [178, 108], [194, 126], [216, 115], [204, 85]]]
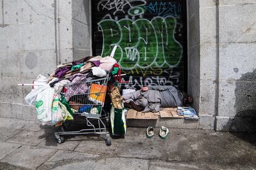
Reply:
[[189, 18], [189, 46], [200, 43], [199, 9]]

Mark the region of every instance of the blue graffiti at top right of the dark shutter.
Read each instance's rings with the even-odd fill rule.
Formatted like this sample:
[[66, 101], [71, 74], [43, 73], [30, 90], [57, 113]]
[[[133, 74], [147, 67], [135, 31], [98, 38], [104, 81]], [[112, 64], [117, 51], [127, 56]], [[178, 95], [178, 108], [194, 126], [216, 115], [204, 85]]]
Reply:
[[173, 15], [177, 17], [181, 13], [181, 4], [172, 4], [171, 2], [150, 2], [148, 6], [144, 6], [151, 14], [158, 14], [160, 17]]

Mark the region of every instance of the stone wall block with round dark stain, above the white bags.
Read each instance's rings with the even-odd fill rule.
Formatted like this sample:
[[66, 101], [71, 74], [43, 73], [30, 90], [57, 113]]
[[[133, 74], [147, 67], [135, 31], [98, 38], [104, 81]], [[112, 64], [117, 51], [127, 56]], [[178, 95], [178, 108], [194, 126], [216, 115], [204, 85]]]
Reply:
[[56, 69], [55, 50], [25, 51], [20, 56], [22, 78], [35, 79], [38, 75], [48, 77]]

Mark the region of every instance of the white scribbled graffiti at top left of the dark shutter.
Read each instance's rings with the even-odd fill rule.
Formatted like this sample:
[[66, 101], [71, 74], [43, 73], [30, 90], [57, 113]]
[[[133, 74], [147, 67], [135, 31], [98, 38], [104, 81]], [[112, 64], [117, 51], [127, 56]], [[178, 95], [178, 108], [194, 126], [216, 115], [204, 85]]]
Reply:
[[101, 0], [98, 3], [98, 11], [100, 10], [112, 10], [114, 9], [114, 15], [116, 12], [121, 11], [124, 12], [124, 7], [132, 8], [132, 2], [142, 2], [143, 4], [146, 4], [145, 0]]

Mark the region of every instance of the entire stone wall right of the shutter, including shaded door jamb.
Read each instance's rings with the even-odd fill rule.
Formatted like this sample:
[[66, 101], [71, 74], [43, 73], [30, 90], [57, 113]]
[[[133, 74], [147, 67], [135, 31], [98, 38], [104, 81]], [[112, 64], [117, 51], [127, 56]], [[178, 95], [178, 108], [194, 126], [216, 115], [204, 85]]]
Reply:
[[254, 131], [256, 1], [188, 4], [189, 93], [199, 128]]

